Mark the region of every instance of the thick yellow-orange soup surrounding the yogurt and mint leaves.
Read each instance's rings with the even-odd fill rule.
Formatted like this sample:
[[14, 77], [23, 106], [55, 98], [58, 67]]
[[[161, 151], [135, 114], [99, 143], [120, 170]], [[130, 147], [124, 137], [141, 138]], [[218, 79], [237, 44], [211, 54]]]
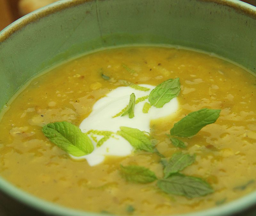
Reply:
[[[90, 165], [70, 157], [42, 132], [53, 122], [79, 127], [97, 101], [121, 86], [155, 87], [176, 78], [177, 110], [150, 121], [157, 149], [153, 153], [133, 149]], [[225, 204], [256, 188], [255, 84], [256, 77], [244, 69], [194, 51], [123, 47], [85, 55], [33, 78], [7, 105], [0, 123], [0, 174], [35, 196], [92, 212], [164, 215]], [[166, 134], [174, 123], [202, 108], [220, 109], [217, 121], [195, 136], [179, 138], [185, 146], [175, 147]], [[163, 158], [178, 152], [195, 156], [180, 173], [208, 182], [214, 192], [194, 198], [168, 194], [157, 187], [157, 180], [138, 183], [121, 175], [122, 167], [137, 165], [163, 179]]]

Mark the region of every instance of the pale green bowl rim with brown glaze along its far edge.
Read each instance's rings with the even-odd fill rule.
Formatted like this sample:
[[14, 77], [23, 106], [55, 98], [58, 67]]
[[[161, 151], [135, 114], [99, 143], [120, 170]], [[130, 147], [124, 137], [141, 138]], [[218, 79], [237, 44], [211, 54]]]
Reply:
[[[28, 25], [31, 22], [35, 22], [36, 20], [39, 20], [42, 17], [48, 16], [55, 12], [59, 12], [63, 9], [73, 7], [79, 4], [83, 4], [85, 2], [90, 2], [90, 1], [94, 1], [94, 0], [60, 0], [52, 4], [46, 5], [42, 8], [39, 8], [21, 17], [20, 19], [14, 21], [12, 24], [10, 24], [9, 26], [1, 30], [0, 43], [8, 39], [10, 36], [12, 36], [12, 34], [15, 34], [18, 30], [24, 28], [26, 25]], [[247, 4], [243, 1], [239, 1], [239, 0], [196, 0], [196, 1], [211, 2], [211, 3], [226, 5], [226, 6], [232, 7], [233, 9], [236, 9], [238, 12], [244, 13], [248, 16], [252, 16], [254, 19], [256, 19], [256, 7], [253, 5]], [[11, 196], [15, 200], [47, 214], [54, 214], [56, 216], [57, 215], [60, 215], [60, 216], [103, 215], [101, 213], [80, 211], [80, 210], [68, 208], [59, 204], [51, 203], [42, 198], [29, 194], [28, 192], [14, 186], [12, 183], [8, 182], [1, 176], [0, 176], [0, 190], [3, 191], [5, 194]], [[227, 204], [223, 204], [220, 206], [216, 206], [216, 207], [212, 207], [212, 208], [208, 208], [208, 209], [200, 210], [196, 212], [175, 214], [172, 216], [217, 216], [217, 215], [224, 216], [227, 214], [235, 214], [235, 213], [244, 211], [255, 204], [256, 204], [256, 191], [251, 192], [231, 202], [228, 202]], [[219, 212], [221, 212], [221, 214]]]

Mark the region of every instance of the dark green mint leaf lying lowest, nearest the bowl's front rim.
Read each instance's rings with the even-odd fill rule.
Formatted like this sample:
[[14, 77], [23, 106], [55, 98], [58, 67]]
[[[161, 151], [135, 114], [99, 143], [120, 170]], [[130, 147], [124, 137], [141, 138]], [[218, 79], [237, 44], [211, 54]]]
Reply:
[[200, 178], [185, 176], [180, 173], [172, 174], [167, 179], [157, 181], [157, 186], [165, 193], [194, 198], [213, 193], [212, 187]]

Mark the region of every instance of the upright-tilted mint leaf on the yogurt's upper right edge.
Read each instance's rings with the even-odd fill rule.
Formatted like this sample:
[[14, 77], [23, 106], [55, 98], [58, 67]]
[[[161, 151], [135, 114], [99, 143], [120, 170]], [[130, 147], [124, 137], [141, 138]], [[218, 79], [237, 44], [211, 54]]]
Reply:
[[154, 88], [148, 97], [151, 106], [161, 108], [180, 93], [179, 78], [168, 79]]

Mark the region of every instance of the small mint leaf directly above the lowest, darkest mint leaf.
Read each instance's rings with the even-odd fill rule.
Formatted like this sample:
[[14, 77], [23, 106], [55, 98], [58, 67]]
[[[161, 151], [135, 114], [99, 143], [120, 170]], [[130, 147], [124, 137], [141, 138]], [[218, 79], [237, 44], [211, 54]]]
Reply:
[[195, 162], [195, 155], [174, 153], [170, 160], [164, 165], [164, 178], [168, 178], [173, 173], [183, 170], [185, 167]]

